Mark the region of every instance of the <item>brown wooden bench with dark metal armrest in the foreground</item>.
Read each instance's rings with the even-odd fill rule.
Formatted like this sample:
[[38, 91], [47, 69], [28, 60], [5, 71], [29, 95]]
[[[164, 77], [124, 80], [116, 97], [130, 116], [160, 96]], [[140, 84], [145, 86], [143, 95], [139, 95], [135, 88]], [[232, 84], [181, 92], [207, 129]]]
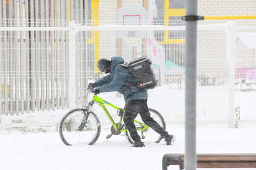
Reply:
[[[184, 169], [184, 154], [165, 154], [163, 170], [169, 165]], [[197, 154], [197, 168], [256, 168], [256, 154]]]

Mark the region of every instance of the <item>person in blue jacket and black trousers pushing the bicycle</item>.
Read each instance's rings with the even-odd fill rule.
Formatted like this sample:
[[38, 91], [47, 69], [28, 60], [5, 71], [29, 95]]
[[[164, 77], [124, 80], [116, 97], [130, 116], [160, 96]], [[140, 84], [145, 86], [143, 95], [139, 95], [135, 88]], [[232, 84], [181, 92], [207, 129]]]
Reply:
[[111, 61], [104, 58], [100, 59], [97, 62], [97, 68], [100, 72], [110, 74], [94, 83], [89, 83], [88, 88], [93, 89], [95, 93], [118, 91], [123, 94], [126, 102], [123, 121], [134, 141], [133, 147], [145, 147], [134, 125], [134, 119], [137, 114], [140, 114], [142, 121], [144, 121], [147, 126], [161, 135], [161, 139], [165, 139], [167, 145], [171, 145], [175, 140], [175, 136], [169, 135], [168, 132], [152, 119], [147, 106], [147, 91], [139, 90], [137, 86], [135, 86], [135, 80], [128, 68], [120, 65], [123, 63], [124, 60], [121, 57], [112, 57]]

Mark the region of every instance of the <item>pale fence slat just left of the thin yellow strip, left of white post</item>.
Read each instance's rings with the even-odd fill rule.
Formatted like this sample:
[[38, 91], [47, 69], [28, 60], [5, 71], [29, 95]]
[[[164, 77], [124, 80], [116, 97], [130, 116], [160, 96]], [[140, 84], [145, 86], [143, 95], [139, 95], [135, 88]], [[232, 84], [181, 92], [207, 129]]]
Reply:
[[[54, 1], [51, 0], [51, 27], [54, 27]], [[51, 31], [51, 100], [52, 100], [52, 111], [55, 110], [55, 36], [54, 31]]]

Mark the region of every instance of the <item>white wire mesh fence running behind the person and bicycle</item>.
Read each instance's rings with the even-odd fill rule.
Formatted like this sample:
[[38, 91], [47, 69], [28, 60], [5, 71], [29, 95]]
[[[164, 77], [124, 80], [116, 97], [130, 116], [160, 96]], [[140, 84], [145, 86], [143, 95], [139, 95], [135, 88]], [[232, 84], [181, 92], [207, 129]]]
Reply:
[[[183, 21], [173, 21], [175, 24], [170, 26], [163, 26], [161, 23], [164, 22], [158, 22], [159, 25], [153, 26], [98, 25], [98, 22], [91, 22], [92, 26], [83, 26], [89, 21], [80, 20], [81, 22], [76, 21], [76, 24], [68, 21], [67, 12], [61, 12], [66, 10], [65, 4], [57, 3], [57, 8], [54, 8], [51, 2], [44, 4], [44, 7], [31, 3], [29, 4], [31, 10], [28, 13], [26, 2], [23, 8], [22, 6], [19, 8], [19, 12], [23, 14], [20, 16], [16, 13], [12, 14], [11, 8], [7, 10], [5, 5], [0, 6], [3, 9], [3, 13], [0, 14], [3, 14], [0, 16], [2, 19], [0, 23], [1, 115], [19, 115], [25, 112], [54, 111], [83, 106], [88, 82], [93, 82], [102, 76], [96, 68], [99, 58], [118, 55], [129, 62], [148, 55], [155, 63], [153, 68], [159, 76], [161, 87], [153, 90], [154, 92], [149, 91], [149, 104], [159, 110], [167, 122], [183, 122], [185, 79]], [[14, 9], [17, 7], [18, 5], [14, 4]], [[46, 12], [45, 16], [40, 15], [36, 10], [39, 7], [42, 12], [46, 9], [50, 11]], [[55, 12], [58, 20], [53, 18], [52, 14]], [[12, 15], [17, 20], [8, 20], [5, 14]], [[30, 15], [29, 20], [28, 15]], [[230, 127], [233, 127], [238, 108], [241, 122], [256, 121], [254, 79], [251, 77], [249, 81], [251, 91], [245, 94], [242, 93], [240, 84], [237, 87], [237, 83], [242, 84], [243, 81], [241, 79], [237, 81], [236, 77], [239, 76], [235, 75], [239, 68], [256, 67], [252, 57], [253, 49], [236, 50], [236, 33], [247, 32], [256, 32], [254, 21], [242, 24], [237, 24], [236, 21], [217, 24], [199, 23], [197, 48], [197, 119], [199, 121], [229, 123]], [[253, 70], [250, 71], [250, 75], [254, 75]]]

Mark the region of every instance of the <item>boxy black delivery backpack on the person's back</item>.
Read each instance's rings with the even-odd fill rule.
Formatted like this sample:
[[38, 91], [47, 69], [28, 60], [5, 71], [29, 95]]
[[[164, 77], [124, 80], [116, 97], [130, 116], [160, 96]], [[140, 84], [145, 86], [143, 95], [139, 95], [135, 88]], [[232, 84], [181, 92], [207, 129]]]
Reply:
[[117, 64], [116, 66], [127, 67], [135, 79], [137, 88], [141, 91], [152, 89], [158, 84], [158, 80], [152, 68], [152, 61], [147, 56], [137, 58], [131, 61], [128, 65], [126, 63]]

